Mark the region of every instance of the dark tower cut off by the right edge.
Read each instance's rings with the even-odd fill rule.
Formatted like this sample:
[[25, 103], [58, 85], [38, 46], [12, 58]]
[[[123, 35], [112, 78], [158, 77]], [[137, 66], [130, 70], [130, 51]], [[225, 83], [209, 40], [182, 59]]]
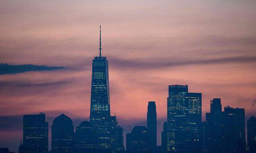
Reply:
[[251, 116], [247, 121], [247, 144], [249, 153], [256, 153], [256, 117]]

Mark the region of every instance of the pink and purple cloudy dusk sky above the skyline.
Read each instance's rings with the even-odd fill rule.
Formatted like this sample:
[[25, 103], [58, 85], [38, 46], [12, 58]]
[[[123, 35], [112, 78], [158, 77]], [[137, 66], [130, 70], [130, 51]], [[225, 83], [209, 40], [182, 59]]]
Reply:
[[156, 101], [161, 144], [169, 84], [202, 93], [202, 120], [212, 98], [222, 109], [245, 108], [248, 120], [256, 115], [255, 16], [255, 0], [1, 0], [0, 147], [18, 152], [24, 114], [44, 112], [49, 135], [62, 113], [74, 126], [89, 119], [100, 24], [111, 114], [124, 136], [146, 126]]

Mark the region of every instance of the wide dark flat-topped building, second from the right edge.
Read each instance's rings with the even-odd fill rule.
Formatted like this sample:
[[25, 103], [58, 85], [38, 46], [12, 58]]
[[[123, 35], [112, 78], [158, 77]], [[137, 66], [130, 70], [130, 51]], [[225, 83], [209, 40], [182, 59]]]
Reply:
[[244, 109], [224, 107], [222, 122], [223, 151], [226, 153], [244, 153], [246, 148]]

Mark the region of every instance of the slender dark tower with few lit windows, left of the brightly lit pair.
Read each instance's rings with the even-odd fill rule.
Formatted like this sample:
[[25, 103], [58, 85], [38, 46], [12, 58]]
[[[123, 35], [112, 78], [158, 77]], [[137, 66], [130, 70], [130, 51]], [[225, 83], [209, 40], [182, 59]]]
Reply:
[[150, 135], [150, 152], [156, 153], [156, 102], [148, 102], [147, 129]]

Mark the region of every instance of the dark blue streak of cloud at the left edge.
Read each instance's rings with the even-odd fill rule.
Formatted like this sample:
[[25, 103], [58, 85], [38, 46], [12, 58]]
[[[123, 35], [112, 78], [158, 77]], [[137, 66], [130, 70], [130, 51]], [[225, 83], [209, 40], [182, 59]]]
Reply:
[[65, 67], [48, 67], [44, 65], [9, 65], [6, 63], [0, 63], [0, 75], [24, 73], [29, 71], [53, 71], [64, 68]]

